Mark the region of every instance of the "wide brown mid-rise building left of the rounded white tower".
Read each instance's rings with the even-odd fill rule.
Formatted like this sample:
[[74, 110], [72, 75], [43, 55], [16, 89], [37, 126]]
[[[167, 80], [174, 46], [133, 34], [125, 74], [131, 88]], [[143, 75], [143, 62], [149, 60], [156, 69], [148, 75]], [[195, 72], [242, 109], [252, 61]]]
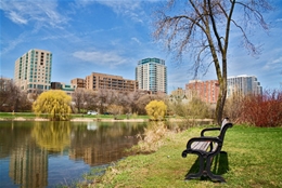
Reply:
[[124, 79], [120, 76], [92, 72], [86, 77], [87, 90], [114, 90], [119, 92], [136, 92], [138, 82], [136, 80]]

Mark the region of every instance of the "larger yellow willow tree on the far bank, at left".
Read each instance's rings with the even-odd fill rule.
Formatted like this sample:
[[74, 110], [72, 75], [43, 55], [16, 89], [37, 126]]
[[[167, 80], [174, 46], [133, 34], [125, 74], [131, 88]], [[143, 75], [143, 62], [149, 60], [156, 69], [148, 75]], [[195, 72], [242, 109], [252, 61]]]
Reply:
[[33, 109], [37, 116], [48, 113], [50, 120], [68, 120], [72, 97], [60, 90], [50, 90], [41, 93], [33, 104]]

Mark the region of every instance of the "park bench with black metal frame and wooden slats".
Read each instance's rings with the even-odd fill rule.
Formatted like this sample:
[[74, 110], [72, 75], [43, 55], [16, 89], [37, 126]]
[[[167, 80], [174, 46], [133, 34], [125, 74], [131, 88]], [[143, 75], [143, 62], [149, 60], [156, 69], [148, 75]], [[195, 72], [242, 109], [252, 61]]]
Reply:
[[[221, 152], [223, 146], [225, 135], [229, 127], [232, 127], [232, 123], [228, 118], [222, 121], [221, 127], [207, 127], [202, 130], [201, 137], [193, 137], [187, 143], [187, 149], [182, 151], [182, 157], [185, 158], [188, 153], [197, 155], [200, 162], [200, 170], [196, 174], [188, 174], [185, 179], [197, 178], [201, 176], [209, 177], [211, 180], [226, 183], [225, 178], [220, 175], [213, 174], [210, 166], [213, 159], [216, 155]], [[219, 131], [217, 137], [205, 136], [208, 131]]]

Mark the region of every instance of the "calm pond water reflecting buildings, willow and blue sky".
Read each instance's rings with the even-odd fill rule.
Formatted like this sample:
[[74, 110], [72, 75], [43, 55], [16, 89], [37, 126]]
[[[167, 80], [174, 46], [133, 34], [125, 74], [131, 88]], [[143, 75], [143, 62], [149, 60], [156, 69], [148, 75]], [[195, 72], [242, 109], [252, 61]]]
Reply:
[[0, 187], [72, 185], [126, 157], [145, 123], [0, 121]]

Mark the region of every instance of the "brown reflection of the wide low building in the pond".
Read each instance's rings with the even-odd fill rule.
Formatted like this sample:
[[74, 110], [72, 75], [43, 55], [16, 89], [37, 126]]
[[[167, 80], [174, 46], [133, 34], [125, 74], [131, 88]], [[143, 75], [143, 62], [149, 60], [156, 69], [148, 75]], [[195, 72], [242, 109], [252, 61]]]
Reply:
[[92, 166], [117, 161], [126, 156], [126, 148], [137, 144], [138, 139], [134, 135], [138, 133], [140, 130], [133, 130], [132, 126], [99, 126], [92, 131], [79, 130], [73, 134], [69, 158], [82, 159], [85, 163]]

